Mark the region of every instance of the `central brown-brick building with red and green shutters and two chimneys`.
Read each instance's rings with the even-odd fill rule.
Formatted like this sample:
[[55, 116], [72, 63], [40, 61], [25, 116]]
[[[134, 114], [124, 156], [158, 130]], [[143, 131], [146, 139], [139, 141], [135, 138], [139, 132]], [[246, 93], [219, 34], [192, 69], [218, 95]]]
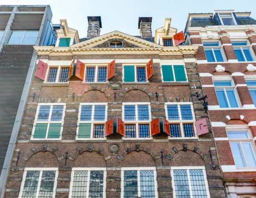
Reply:
[[141, 36], [100, 35], [88, 17], [79, 39], [61, 20], [56, 45], [34, 47], [5, 197], [226, 197], [198, 46], [171, 18], [153, 38], [151, 21], [139, 18]]

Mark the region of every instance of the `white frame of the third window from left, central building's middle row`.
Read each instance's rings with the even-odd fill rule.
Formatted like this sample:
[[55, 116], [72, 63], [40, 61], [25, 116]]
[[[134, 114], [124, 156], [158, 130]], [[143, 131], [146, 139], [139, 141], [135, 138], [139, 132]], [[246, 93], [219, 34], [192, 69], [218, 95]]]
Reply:
[[[124, 117], [124, 107], [125, 105], [135, 105], [135, 120], [125, 120]], [[138, 120], [138, 105], [148, 105], [148, 115], [149, 115], [149, 120]], [[122, 120], [124, 124], [135, 124], [135, 129], [136, 129], [136, 137], [135, 138], [128, 138], [126, 136], [122, 137], [122, 139], [129, 139], [129, 140], [143, 140], [143, 139], [153, 139], [153, 136], [151, 136], [151, 126], [150, 123], [152, 121], [151, 117], [151, 103], [150, 102], [138, 102], [138, 103], [122, 103]], [[139, 138], [139, 124], [148, 124], [149, 125], [149, 137], [148, 138]], [[125, 132], [125, 127], [124, 127], [124, 132]], [[125, 135], [125, 134], [124, 134]]]

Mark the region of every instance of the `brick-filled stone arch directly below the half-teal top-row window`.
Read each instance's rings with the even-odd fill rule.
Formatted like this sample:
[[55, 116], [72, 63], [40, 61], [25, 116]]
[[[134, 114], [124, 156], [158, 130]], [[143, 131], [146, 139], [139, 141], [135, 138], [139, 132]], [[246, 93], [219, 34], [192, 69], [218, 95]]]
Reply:
[[[138, 93], [138, 95], [135, 93]], [[141, 97], [141, 95], [143, 96]], [[133, 100], [129, 100], [129, 97], [133, 98]], [[154, 93], [149, 92], [145, 87], [131, 86], [120, 92], [118, 100], [122, 102], [151, 102], [154, 100]]]

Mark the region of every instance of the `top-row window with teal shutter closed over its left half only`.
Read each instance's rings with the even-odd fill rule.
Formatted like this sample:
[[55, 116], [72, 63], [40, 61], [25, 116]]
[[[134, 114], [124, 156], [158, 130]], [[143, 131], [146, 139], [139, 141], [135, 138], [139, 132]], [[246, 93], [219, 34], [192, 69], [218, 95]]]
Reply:
[[123, 82], [147, 82], [146, 65], [124, 65]]

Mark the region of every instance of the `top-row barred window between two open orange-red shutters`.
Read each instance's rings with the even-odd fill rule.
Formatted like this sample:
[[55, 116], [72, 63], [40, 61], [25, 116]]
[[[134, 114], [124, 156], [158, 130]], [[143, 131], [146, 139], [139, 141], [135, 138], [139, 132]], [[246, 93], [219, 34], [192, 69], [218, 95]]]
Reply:
[[107, 82], [108, 67], [106, 65], [86, 65], [84, 72], [85, 83]]

